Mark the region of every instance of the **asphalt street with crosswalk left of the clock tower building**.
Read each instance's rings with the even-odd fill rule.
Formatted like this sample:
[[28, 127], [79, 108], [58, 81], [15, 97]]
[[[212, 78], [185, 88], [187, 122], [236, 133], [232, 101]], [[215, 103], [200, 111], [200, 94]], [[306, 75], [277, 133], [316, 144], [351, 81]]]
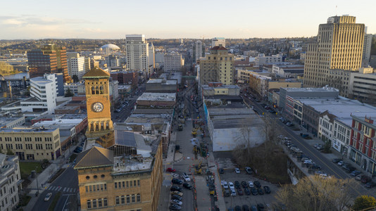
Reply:
[[[37, 203], [32, 208], [33, 211], [48, 210], [56, 193], [61, 192], [61, 197], [56, 204], [55, 210], [77, 210], [78, 179], [77, 172], [73, 167], [68, 167], [63, 174], [43, 192], [39, 194]], [[44, 201], [47, 193], [52, 193], [50, 200]]]

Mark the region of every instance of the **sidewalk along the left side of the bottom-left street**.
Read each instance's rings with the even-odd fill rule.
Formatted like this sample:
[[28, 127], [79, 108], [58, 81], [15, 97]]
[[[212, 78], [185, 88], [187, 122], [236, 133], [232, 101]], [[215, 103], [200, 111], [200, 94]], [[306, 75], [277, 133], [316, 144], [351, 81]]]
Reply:
[[[80, 143], [82, 139], [83, 138], [81, 137], [78, 143]], [[27, 193], [27, 196], [31, 196], [32, 198], [30, 199], [27, 206], [23, 207], [23, 210], [25, 211], [32, 210], [32, 208], [35, 206], [35, 203], [37, 203], [37, 200], [40, 194], [46, 188], [49, 188], [49, 186], [51, 185], [48, 183], [49, 179], [51, 179], [51, 177], [54, 176], [54, 174], [58, 172], [58, 170], [60, 170], [61, 168], [66, 169], [70, 165], [70, 163], [67, 163], [67, 162], [69, 161], [70, 155], [73, 154], [73, 150], [76, 146], [77, 145], [70, 146], [70, 150], [68, 149], [67, 151], [65, 151], [65, 156], [64, 156], [65, 158], [63, 158], [63, 155], [61, 155], [57, 160], [51, 161], [51, 165], [49, 165], [49, 167], [46, 167], [46, 169], [43, 172], [41, 172], [40, 174], [37, 174], [37, 177], [35, 177], [35, 179], [30, 182], [29, 186], [24, 187], [24, 189], [30, 190], [30, 192]], [[37, 193], [37, 190], [39, 191], [39, 196], [35, 196], [35, 193]]]

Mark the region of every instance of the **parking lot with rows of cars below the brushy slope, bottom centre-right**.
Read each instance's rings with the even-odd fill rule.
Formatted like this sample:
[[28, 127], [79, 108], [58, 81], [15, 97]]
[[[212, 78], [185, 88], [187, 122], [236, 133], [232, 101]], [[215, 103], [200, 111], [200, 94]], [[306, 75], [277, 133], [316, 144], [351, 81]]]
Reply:
[[270, 191], [271, 193], [270, 194], [266, 194], [264, 192], [263, 195], [256, 195], [256, 196], [253, 196], [252, 193], [251, 195], [249, 196], [246, 196], [246, 194], [244, 193], [244, 188], [242, 188], [242, 185], [241, 188], [243, 190], [243, 196], [239, 196], [237, 194], [237, 196], [229, 196], [229, 197], [225, 197], [225, 203], [226, 203], [226, 208], [234, 208], [236, 205], [239, 205], [240, 207], [242, 207], [242, 205], [249, 205], [249, 207], [251, 207], [251, 205], [257, 205], [258, 203], [263, 203], [263, 205], [265, 206], [265, 210], [267, 207], [270, 207], [272, 205], [272, 203], [275, 203], [276, 200], [275, 200], [275, 192], [278, 190], [278, 187], [275, 186], [274, 184], [270, 184], [269, 182], [267, 181], [263, 181], [261, 179], [257, 179], [255, 177], [253, 177], [253, 174], [246, 174], [245, 170], [240, 170], [240, 174], [236, 174], [234, 172], [234, 169], [226, 169], [224, 171], [224, 174], [220, 174], [220, 179], [221, 181], [227, 181], [227, 183], [229, 181], [231, 181], [232, 183], [234, 183], [235, 181], [239, 181], [240, 183], [242, 181], [246, 181], [246, 183], [248, 184], [248, 181], [259, 181], [260, 184], [261, 184], [261, 188], [263, 188], [263, 186], [269, 186], [270, 187]]

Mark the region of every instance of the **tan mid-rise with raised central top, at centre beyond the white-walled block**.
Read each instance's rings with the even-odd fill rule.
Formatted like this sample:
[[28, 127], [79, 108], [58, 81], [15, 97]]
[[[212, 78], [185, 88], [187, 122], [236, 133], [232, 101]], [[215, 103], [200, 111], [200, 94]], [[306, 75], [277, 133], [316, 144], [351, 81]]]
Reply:
[[234, 55], [223, 46], [215, 46], [200, 60], [200, 84], [220, 82], [234, 84]]

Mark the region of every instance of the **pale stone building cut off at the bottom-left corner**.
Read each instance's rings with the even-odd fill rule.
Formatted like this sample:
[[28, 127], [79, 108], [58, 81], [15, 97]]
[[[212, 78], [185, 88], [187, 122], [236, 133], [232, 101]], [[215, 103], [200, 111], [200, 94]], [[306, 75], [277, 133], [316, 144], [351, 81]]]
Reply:
[[21, 188], [18, 156], [0, 153], [0, 210], [11, 211], [18, 204]]

